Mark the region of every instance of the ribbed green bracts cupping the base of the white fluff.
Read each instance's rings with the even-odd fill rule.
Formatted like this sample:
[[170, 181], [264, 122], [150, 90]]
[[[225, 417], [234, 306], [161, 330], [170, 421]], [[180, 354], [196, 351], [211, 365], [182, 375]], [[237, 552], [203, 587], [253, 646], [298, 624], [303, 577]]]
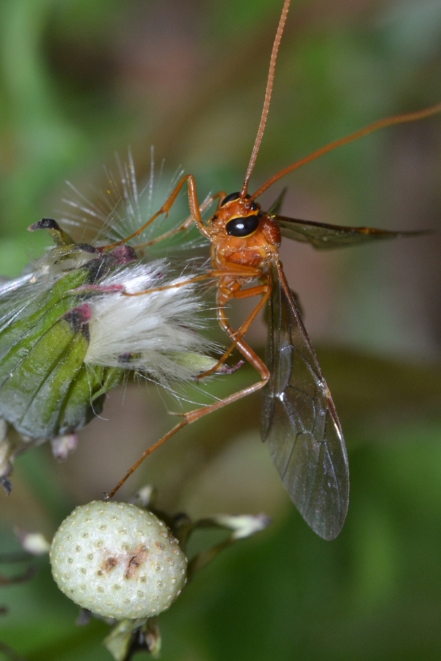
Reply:
[[0, 334], [0, 414], [31, 438], [54, 438], [102, 410], [122, 369], [89, 369], [87, 303], [72, 289], [91, 280], [88, 267], [63, 276], [36, 312]]

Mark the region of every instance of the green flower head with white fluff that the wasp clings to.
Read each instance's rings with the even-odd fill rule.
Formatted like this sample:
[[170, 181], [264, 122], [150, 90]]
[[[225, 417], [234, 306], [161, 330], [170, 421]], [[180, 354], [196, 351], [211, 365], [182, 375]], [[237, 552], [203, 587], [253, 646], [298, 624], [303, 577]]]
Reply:
[[0, 287], [6, 486], [24, 447], [55, 439], [63, 458], [74, 445], [69, 437], [102, 411], [106, 392], [127, 370], [170, 387], [216, 365], [198, 332], [200, 299], [191, 278], [167, 279], [166, 262], [141, 262], [124, 244], [75, 244], [48, 218], [29, 229], [48, 230], [56, 246]]

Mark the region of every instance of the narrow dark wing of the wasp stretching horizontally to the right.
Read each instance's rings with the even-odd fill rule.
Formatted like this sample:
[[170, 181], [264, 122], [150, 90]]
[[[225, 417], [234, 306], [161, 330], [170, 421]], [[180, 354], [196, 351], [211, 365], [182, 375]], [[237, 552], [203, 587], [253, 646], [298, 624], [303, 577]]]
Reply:
[[417, 237], [427, 234], [425, 230], [415, 232], [388, 232], [376, 228], [349, 228], [343, 225], [328, 225], [314, 221], [299, 221], [286, 216], [272, 216], [282, 232], [282, 236], [294, 241], [312, 244], [318, 250], [344, 248], [367, 244], [379, 239], [398, 239], [400, 237]]

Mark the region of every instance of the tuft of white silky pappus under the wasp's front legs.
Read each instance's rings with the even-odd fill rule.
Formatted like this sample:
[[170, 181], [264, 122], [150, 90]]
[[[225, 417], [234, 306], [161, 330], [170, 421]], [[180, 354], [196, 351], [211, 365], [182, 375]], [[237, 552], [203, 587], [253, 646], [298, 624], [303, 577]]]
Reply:
[[134, 262], [100, 280], [103, 293], [88, 300], [86, 364], [134, 369], [161, 385], [189, 381], [216, 364], [207, 356], [215, 345], [199, 333], [204, 305], [192, 276], [170, 280], [167, 270], [165, 260]]

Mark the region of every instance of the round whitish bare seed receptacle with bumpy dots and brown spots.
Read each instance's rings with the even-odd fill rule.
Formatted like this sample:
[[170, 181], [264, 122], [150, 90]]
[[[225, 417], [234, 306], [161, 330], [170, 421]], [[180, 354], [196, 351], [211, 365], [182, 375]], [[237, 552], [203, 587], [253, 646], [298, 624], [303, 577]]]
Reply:
[[187, 559], [165, 523], [122, 502], [74, 509], [54, 535], [50, 558], [61, 591], [118, 620], [159, 614], [186, 582]]

